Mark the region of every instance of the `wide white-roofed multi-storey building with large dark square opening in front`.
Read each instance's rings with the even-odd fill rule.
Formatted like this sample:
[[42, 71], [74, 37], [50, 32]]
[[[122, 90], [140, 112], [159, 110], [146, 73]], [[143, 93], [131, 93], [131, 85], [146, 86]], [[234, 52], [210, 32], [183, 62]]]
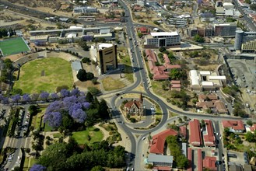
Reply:
[[176, 32], [156, 32], [146, 35], [146, 48], [180, 46], [181, 37]]

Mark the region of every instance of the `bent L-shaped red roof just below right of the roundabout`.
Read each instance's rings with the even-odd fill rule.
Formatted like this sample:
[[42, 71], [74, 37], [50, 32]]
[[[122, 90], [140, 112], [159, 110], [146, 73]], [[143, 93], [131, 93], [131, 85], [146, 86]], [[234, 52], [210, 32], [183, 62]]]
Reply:
[[149, 152], [156, 153], [156, 154], [163, 154], [164, 142], [166, 138], [170, 135], [176, 136], [177, 131], [174, 131], [173, 129], [167, 129], [166, 131], [163, 131], [163, 132], [160, 132], [159, 134], [154, 135], [151, 141]]

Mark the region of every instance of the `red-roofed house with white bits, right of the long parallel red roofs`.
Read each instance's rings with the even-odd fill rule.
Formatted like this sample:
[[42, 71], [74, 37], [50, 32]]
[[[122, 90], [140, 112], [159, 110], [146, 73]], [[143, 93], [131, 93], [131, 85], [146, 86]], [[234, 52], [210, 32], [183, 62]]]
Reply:
[[223, 128], [230, 128], [230, 132], [244, 132], [244, 123], [242, 120], [223, 120]]

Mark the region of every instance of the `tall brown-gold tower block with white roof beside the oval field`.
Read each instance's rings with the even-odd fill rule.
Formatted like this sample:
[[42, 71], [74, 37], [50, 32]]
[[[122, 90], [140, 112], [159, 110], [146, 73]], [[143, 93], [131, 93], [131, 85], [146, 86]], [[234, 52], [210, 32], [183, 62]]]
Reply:
[[97, 49], [97, 61], [100, 63], [100, 74], [118, 68], [117, 45], [99, 44]]

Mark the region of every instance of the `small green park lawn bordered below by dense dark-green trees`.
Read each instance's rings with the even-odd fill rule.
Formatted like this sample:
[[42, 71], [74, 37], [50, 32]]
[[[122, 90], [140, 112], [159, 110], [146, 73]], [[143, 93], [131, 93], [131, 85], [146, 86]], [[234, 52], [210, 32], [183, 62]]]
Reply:
[[72, 138], [75, 138], [75, 141], [77, 141], [79, 145], [90, 145], [93, 144], [93, 142], [102, 141], [103, 134], [96, 127], [87, 127], [85, 131], [73, 132]]

